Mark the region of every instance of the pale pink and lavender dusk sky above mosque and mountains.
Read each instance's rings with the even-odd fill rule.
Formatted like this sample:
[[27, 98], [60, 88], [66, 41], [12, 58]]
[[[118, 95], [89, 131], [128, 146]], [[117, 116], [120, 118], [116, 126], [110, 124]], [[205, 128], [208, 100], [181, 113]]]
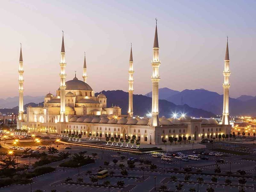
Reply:
[[56, 94], [62, 30], [67, 81], [82, 79], [95, 92], [127, 91], [130, 42], [134, 94], [152, 89], [157, 17], [159, 88], [204, 88], [223, 94], [226, 36], [230, 96], [256, 95], [256, 1], [3, 1], [0, 7], [0, 98], [18, 96], [20, 43], [24, 95]]

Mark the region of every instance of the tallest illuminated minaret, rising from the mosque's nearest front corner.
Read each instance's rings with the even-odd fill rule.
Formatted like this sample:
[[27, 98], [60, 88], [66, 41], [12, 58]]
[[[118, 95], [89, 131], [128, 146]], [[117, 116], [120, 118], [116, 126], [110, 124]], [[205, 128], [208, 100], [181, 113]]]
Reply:
[[155, 31], [155, 39], [153, 46], [153, 60], [151, 61], [151, 66], [153, 68], [153, 74], [151, 76], [151, 81], [153, 84], [152, 89], [152, 112], [151, 112], [151, 121], [150, 126], [159, 126], [159, 116], [158, 116], [158, 84], [160, 81], [158, 68], [161, 64], [159, 61], [159, 46], [158, 46], [158, 36], [157, 36], [157, 19], [156, 19], [156, 31]]

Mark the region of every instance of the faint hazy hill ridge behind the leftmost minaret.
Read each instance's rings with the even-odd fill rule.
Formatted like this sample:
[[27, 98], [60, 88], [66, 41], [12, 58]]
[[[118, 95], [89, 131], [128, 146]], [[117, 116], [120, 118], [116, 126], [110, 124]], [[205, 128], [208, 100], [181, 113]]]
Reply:
[[[24, 103], [39, 103], [44, 100], [44, 96], [32, 97], [26, 95], [23, 97]], [[0, 99], [0, 108], [13, 108], [19, 105], [19, 97], [8, 97], [7, 99]]]

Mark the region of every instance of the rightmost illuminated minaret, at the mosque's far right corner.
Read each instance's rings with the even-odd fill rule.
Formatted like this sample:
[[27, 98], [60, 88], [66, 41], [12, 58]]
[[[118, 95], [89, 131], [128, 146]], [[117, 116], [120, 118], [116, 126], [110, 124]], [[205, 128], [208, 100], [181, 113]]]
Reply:
[[230, 70], [229, 70], [229, 53], [228, 53], [228, 36], [227, 36], [227, 47], [226, 47], [226, 55], [224, 60], [224, 83], [223, 83], [223, 116], [221, 120], [221, 124], [229, 125], [229, 111], [228, 111], [228, 101], [229, 101], [229, 76], [230, 76]]

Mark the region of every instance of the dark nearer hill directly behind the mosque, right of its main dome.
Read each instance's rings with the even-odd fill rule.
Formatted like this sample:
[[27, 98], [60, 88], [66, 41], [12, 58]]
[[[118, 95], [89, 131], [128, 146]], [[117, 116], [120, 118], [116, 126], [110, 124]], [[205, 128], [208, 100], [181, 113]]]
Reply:
[[[128, 92], [122, 90], [102, 91], [107, 97], [107, 107], [119, 105], [122, 108], [122, 114], [128, 111]], [[95, 93], [97, 96], [99, 93]], [[133, 95], [134, 115], [144, 116], [151, 111], [152, 98], [144, 95]], [[159, 100], [159, 116], [171, 117], [172, 113], [186, 113], [188, 116], [196, 117], [215, 117], [216, 115], [203, 109], [191, 108], [188, 105], [175, 105], [167, 100]]]

